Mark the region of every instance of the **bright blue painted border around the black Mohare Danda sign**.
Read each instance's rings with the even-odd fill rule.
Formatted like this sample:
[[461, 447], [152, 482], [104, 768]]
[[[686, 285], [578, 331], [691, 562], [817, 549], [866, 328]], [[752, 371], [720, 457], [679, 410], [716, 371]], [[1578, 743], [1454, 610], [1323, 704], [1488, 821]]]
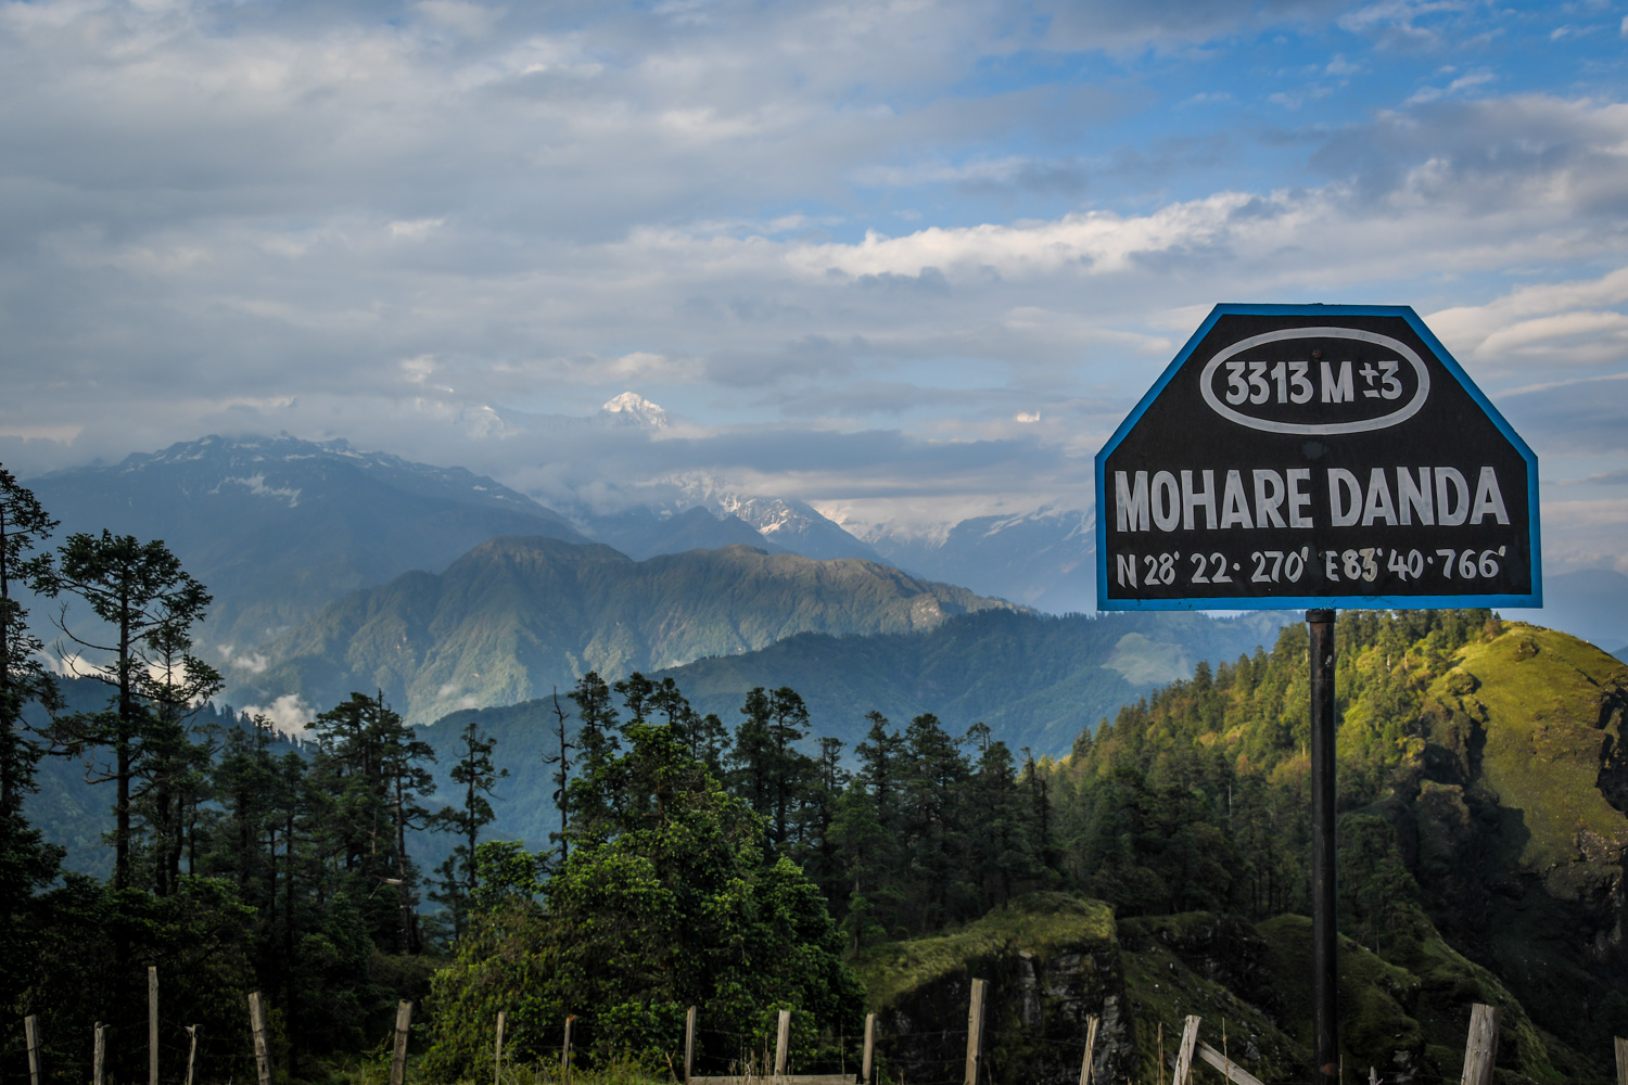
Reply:
[[[1226, 595], [1205, 599], [1105, 599], [1109, 576], [1107, 522], [1102, 519], [1102, 495], [1107, 480], [1105, 467], [1109, 454], [1118, 447], [1120, 441], [1131, 431], [1143, 413], [1159, 399], [1159, 392], [1169, 384], [1177, 371], [1187, 363], [1198, 343], [1203, 342], [1210, 329], [1224, 316], [1286, 316], [1286, 317], [1400, 317], [1407, 320], [1424, 345], [1436, 353], [1447, 373], [1464, 387], [1475, 403], [1486, 412], [1498, 431], [1521, 452], [1527, 465], [1527, 509], [1532, 545], [1532, 592], [1529, 595]], [[1114, 436], [1107, 439], [1096, 462], [1096, 501], [1097, 501], [1097, 610], [1434, 610], [1444, 607], [1542, 607], [1543, 605], [1543, 551], [1538, 530], [1537, 501], [1537, 454], [1521, 439], [1521, 434], [1493, 407], [1491, 400], [1475, 387], [1475, 381], [1464, 371], [1464, 366], [1442, 346], [1436, 333], [1424, 320], [1413, 312], [1411, 306], [1325, 306], [1325, 304], [1237, 304], [1224, 303], [1210, 311], [1205, 322], [1192, 333], [1187, 345], [1175, 359], [1166, 366], [1153, 387], [1136, 400], [1136, 407], [1118, 425]]]

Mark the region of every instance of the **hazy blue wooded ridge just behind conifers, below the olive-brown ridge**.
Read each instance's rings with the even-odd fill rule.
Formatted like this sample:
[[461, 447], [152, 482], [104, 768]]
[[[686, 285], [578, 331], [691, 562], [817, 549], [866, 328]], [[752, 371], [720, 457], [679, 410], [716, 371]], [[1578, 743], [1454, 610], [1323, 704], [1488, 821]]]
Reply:
[[[904, 727], [934, 714], [952, 735], [983, 722], [1011, 750], [1061, 755], [1083, 727], [1120, 704], [1188, 675], [1201, 659], [1228, 659], [1276, 636], [1276, 620], [1214, 621], [1201, 615], [1071, 615], [1052, 618], [1013, 610], [980, 610], [913, 633], [832, 636], [804, 633], [755, 652], [702, 659], [653, 673], [672, 678], [698, 712], [713, 712], [734, 729], [741, 706], [757, 686], [796, 690], [814, 735], [837, 739], [843, 760], [864, 742], [869, 712]], [[560, 685], [560, 706], [576, 706]], [[425, 739], [449, 752], [477, 721], [503, 752], [510, 776], [497, 782], [497, 836], [540, 848], [558, 828], [549, 800], [552, 784], [542, 758], [554, 752], [554, 701], [453, 712], [425, 729]], [[571, 727], [575, 727], [575, 721]], [[803, 742], [809, 753], [812, 739]]]

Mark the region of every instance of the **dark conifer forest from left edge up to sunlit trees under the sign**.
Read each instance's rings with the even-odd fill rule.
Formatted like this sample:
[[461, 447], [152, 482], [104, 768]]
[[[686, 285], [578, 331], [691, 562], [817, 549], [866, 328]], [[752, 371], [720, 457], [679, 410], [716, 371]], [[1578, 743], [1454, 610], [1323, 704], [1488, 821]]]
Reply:
[[[52, 550], [52, 527], [0, 472], [0, 1005], [39, 1015], [52, 1080], [90, 1077], [98, 1023], [111, 1075], [145, 1070], [147, 966], [161, 1043], [181, 1052], [197, 1025], [204, 1080], [252, 1074], [249, 991], [272, 1005], [287, 1082], [376, 1059], [397, 999], [423, 1007], [431, 1080], [490, 1074], [497, 1010], [516, 1059], [544, 1057], [576, 1013], [588, 1059], [656, 1069], [689, 1005], [720, 1065], [796, 1009], [814, 1064], [851, 1054], [868, 952], [1024, 895], [1120, 917], [1306, 911], [1298, 625], [1083, 729], [1060, 761], [928, 712], [871, 712], [845, 748], [786, 686], [754, 688], [726, 722], [671, 677], [589, 672], [552, 701], [560, 831], [532, 854], [484, 831], [505, 755], [475, 719], [453, 794], [433, 797], [433, 750], [376, 690], [319, 712], [301, 743], [218, 716], [204, 708], [218, 677], [192, 651], [207, 587], [163, 543], [104, 532]], [[59, 644], [101, 704], [63, 703], [24, 597], [72, 604]], [[1426, 690], [1499, 631], [1485, 610], [1340, 617], [1341, 930], [1376, 950], [1420, 908], [1451, 926], [1381, 805], [1424, 748]], [[28, 820], [49, 756], [107, 794], [106, 880], [65, 872]], [[430, 870], [414, 859], [427, 834], [451, 843]], [[21, 1080], [10, 1038], [0, 1074]]]

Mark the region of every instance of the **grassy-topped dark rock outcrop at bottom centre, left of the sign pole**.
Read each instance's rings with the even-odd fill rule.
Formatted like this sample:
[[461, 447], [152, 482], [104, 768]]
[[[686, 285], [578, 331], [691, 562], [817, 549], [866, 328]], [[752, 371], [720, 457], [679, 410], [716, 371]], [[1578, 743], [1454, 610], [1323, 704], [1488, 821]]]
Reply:
[[983, 1070], [991, 1085], [1073, 1085], [1097, 1015], [1099, 1080], [1127, 1080], [1136, 1036], [1114, 916], [1101, 901], [1034, 893], [957, 934], [899, 942], [860, 961], [891, 1077], [959, 1078], [972, 981], [988, 984]]

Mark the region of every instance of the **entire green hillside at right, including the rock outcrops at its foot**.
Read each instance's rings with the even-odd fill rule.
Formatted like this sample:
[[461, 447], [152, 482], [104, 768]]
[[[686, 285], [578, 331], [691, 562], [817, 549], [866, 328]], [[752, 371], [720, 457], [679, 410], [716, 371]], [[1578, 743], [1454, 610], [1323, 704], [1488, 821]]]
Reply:
[[[1628, 1031], [1628, 667], [1485, 612], [1348, 613], [1338, 651], [1346, 1072], [1452, 1077], [1470, 1004], [1490, 1002], [1499, 1080], [1604, 1080]], [[905, 1033], [964, 1028], [965, 981], [991, 979], [1008, 1078], [1078, 1077], [1091, 1012], [1102, 1067], [1138, 1082], [1187, 1013], [1263, 1080], [1302, 1070], [1306, 677], [1291, 626], [1081, 735], [1052, 782], [1084, 896], [866, 950], [873, 1009]], [[910, 1043], [897, 1057], [905, 1080], [941, 1069]]]

